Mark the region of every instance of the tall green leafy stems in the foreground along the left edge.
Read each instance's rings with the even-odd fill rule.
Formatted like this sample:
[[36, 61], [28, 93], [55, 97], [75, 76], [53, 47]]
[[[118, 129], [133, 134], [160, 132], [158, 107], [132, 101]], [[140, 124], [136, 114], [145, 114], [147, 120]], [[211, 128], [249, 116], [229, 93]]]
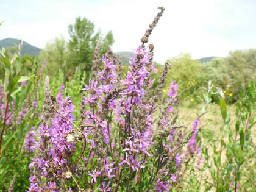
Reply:
[[[0, 104], [4, 106], [0, 116], [0, 188], [7, 191], [10, 181], [17, 173], [15, 191], [25, 191], [29, 185], [29, 159], [24, 154], [25, 135], [37, 123], [37, 110], [29, 107], [36, 98], [35, 87], [39, 79], [37, 75], [23, 75], [29, 55], [21, 57], [21, 44], [15, 54], [2, 49], [1, 61], [4, 63], [4, 87], [1, 87]], [[24, 85], [21, 85], [24, 84]], [[8, 114], [5, 115], [5, 114]]]

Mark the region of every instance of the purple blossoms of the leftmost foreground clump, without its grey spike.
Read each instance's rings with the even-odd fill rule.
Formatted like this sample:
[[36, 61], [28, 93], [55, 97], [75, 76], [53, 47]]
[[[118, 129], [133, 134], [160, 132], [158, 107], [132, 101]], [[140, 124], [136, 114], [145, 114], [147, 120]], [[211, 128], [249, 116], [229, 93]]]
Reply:
[[[76, 149], [75, 144], [66, 142], [65, 135], [73, 129], [73, 125], [69, 121], [74, 121], [74, 105], [69, 98], [63, 98], [63, 88], [63, 86], [60, 87], [60, 92], [57, 95], [58, 105], [56, 106], [62, 115], [55, 113], [51, 123], [47, 125], [41, 123], [35, 132], [29, 132], [26, 135], [25, 150], [34, 151], [37, 149], [37, 154], [34, 155], [32, 163], [29, 165], [33, 173], [30, 182], [35, 182], [34, 176], [38, 178], [38, 181], [41, 180], [42, 176], [48, 177], [48, 168], [50, 166], [52, 168], [52, 163], [54, 167], [58, 166], [55, 174], [62, 176], [63, 171], [66, 171], [67, 159], [73, 156]], [[57, 187], [55, 182], [47, 182], [44, 185], [37, 182], [30, 186], [30, 190], [33, 191], [35, 188], [56, 191], [55, 188]]]

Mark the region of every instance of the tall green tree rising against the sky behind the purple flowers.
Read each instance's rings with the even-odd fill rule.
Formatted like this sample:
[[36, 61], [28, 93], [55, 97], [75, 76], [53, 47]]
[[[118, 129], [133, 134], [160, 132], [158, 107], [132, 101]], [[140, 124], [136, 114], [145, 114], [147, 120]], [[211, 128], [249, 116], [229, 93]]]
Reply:
[[[87, 18], [76, 18], [75, 24], [68, 26], [70, 40], [68, 41], [69, 66], [81, 66], [88, 73], [91, 71], [93, 53], [101, 38], [101, 32], [94, 32], [94, 24]], [[102, 38], [100, 57], [107, 52], [107, 49], [114, 43], [112, 32], [108, 32]]]

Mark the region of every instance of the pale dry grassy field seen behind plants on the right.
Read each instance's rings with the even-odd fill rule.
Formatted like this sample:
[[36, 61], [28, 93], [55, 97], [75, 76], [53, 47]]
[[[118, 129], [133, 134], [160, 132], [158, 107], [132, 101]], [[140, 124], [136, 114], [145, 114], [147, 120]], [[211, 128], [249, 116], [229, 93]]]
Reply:
[[[236, 123], [236, 106], [235, 105], [229, 105], [227, 106], [228, 114], [230, 115], [230, 126], [231, 129], [233, 129], [235, 133], [235, 123]], [[188, 107], [186, 103], [183, 103], [179, 107], [179, 122], [182, 124], [187, 125], [188, 127], [191, 126], [191, 123], [193, 123], [194, 119], [196, 119], [199, 115], [201, 115], [201, 105], [196, 105], [194, 107]], [[254, 116], [256, 114], [254, 113]], [[255, 121], [255, 118], [254, 118]], [[189, 124], [190, 123], [190, 124]], [[218, 104], [211, 104], [207, 108], [207, 113], [201, 116], [200, 118], [200, 127], [201, 127], [201, 135], [204, 135], [205, 138], [212, 137], [213, 140], [219, 140], [219, 136], [221, 135], [221, 127], [224, 125], [222, 116], [221, 116], [221, 110]], [[203, 138], [201, 141], [204, 143], [205, 146], [207, 146], [207, 139]], [[238, 138], [239, 139], [239, 138]], [[228, 142], [228, 138], [224, 138], [226, 142]], [[256, 125], [252, 127], [252, 142], [255, 146], [256, 144]], [[211, 156], [213, 154], [213, 148], [210, 143], [208, 143], [209, 146], [209, 155]], [[220, 144], [219, 144], [220, 146]], [[226, 161], [226, 150], [223, 151], [221, 156], [221, 162], [224, 164]], [[213, 160], [210, 160], [212, 162], [212, 165], [214, 165]], [[196, 163], [196, 162], [194, 162]], [[253, 166], [255, 163], [255, 160], [252, 160], [251, 163]], [[205, 164], [202, 163], [201, 169], [194, 169], [193, 174], [199, 176], [198, 180], [200, 180], [200, 189], [199, 191], [205, 191], [205, 180], [212, 182], [211, 177], [211, 171], [210, 169], [206, 169]], [[256, 170], [255, 170], [256, 172]], [[190, 180], [190, 175], [185, 176], [187, 180]], [[212, 188], [212, 190], [207, 191], [215, 191], [215, 188]]]

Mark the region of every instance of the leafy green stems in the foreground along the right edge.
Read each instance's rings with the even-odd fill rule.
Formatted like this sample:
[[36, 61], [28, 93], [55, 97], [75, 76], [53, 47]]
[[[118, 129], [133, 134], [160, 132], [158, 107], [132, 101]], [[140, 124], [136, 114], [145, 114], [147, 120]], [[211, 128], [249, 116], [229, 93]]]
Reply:
[[[252, 142], [252, 127], [256, 112], [255, 82], [240, 91], [240, 101], [236, 103], [235, 126], [230, 121], [230, 111], [226, 102], [220, 99], [219, 106], [223, 124], [218, 137], [201, 135], [204, 167], [210, 171], [205, 178], [205, 191], [253, 191], [255, 189], [256, 146]], [[211, 152], [212, 151], [212, 152]]]

